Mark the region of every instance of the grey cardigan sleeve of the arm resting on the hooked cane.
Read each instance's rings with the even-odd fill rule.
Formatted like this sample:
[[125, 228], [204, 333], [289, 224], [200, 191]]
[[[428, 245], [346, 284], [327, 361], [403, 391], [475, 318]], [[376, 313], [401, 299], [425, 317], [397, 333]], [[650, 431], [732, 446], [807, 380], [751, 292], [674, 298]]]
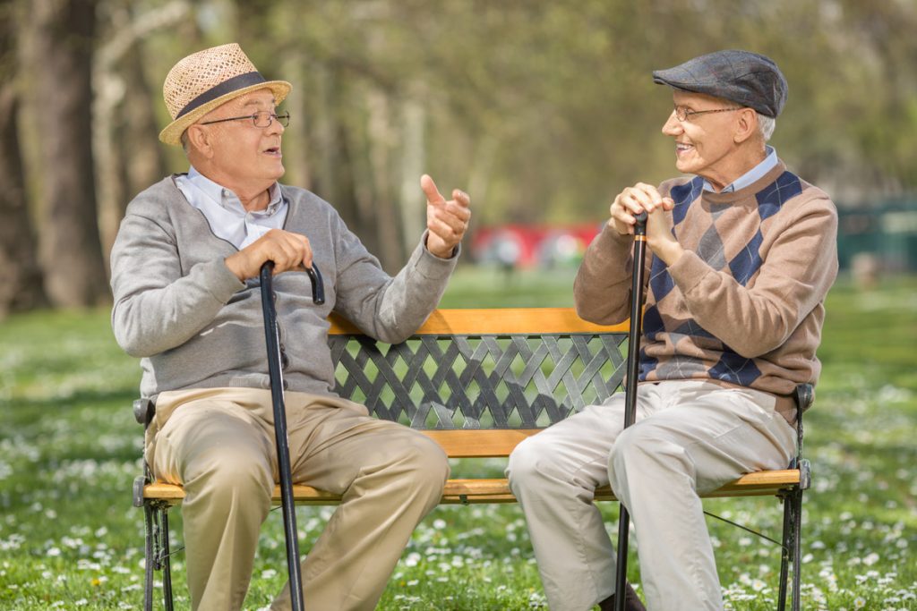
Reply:
[[128, 209], [112, 248], [112, 328], [132, 356], [151, 356], [184, 344], [212, 322], [245, 285], [222, 258], [182, 277], [168, 224]]

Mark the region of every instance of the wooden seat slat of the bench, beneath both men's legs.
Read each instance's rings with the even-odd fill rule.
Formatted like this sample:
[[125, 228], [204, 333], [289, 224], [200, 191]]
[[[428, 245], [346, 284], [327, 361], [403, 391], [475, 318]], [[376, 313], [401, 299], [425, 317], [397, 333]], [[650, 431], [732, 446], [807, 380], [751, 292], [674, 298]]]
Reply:
[[[718, 490], [703, 495], [704, 498], [720, 496], [772, 496], [780, 490], [798, 486], [800, 483], [799, 469], [782, 469], [778, 471], [759, 471], [743, 475], [732, 484], [727, 484]], [[178, 504], [184, 498], [182, 486], [163, 484], [157, 482], [148, 484], [143, 489], [145, 498], [157, 499]], [[340, 496], [312, 486], [293, 486], [293, 496], [297, 503], [302, 505], [334, 505], [340, 502]], [[274, 488], [273, 500], [279, 502], [281, 498], [280, 486]], [[615, 500], [609, 486], [602, 486], [596, 490], [596, 500]], [[510, 491], [509, 484], [504, 478], [489, 479], [450, 479], [443, 491], [441, 503], [514, 503], [515, 496]]]

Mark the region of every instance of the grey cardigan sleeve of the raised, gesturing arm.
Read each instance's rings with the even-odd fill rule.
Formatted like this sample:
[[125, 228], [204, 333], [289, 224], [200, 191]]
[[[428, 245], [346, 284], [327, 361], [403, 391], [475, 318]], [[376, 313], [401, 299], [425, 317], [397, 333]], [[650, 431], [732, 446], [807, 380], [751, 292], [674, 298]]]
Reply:
[[335, 309], [382, 342], [407, 339], [439, 303], [458, 249], [451, 258], [441, 259], [426, 249], [424, 233], [407, 264], [392, 278], [340, 219], [338, 232]]

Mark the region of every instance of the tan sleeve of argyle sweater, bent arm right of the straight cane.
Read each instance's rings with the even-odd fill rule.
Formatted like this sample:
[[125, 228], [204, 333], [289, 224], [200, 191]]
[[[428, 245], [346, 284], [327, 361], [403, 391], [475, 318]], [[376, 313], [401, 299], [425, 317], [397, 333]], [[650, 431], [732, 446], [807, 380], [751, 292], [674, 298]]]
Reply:
[[746, 358], [784, 344], [837, 275], [837, 213], [826, 195], [800, 202], [783, 223], [751, 288], [691, 251], [668, 268], [691, 316]]

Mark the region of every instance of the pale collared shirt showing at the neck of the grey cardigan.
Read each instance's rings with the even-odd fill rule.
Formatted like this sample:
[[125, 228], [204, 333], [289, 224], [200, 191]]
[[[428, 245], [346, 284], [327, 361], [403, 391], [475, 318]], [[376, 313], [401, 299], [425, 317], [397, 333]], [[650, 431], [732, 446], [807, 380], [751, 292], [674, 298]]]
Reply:
[[289, 206], [275, 182], [268, 190], [271, 202], [265, 210], [246, 212], [236, 193], [216, 184], [191, 166], [187, 175], [175, 178], [175, 184], [188, 203], [207, 219], [216, 237], [239, 250], [245, 248], [271, 229], [282, 229]]

